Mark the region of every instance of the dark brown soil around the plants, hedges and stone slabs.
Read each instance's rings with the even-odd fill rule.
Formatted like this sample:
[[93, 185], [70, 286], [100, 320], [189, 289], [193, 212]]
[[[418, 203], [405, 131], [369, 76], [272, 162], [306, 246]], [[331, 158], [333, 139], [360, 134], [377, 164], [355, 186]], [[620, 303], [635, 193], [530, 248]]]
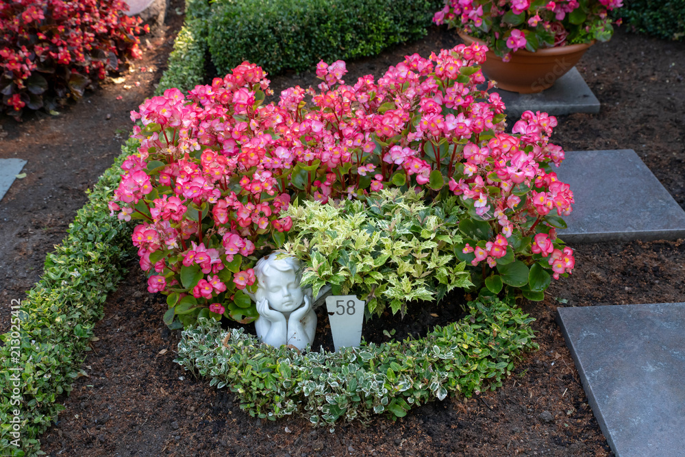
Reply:
[[[172, 12], [182, 6], [175, 3]], [[172, 26], [173, 32], [178, 21]], [[27, 177], [0, 203], [0, 329], [7, 327], [6, 304], [38, 279], [45, 253], [84, 203], [83, 190], [119, 153], [131, 128], [128, 112], [153, 92], [172, 35], [136, 62], [136, 73], [125, 75], [124, 84], [137, 80], [140, 88], [107, 84], [60, 116], [38, 115], [21, 125], [2, 121], [7, 136], [0, 140], [0, 157], [29, 164]], [[457, 42], [451, 32], [432, 29], [421, 42], [349, 63], [346, 79], [380, 75], [403, 55], [428, 55]], [[153, 66], [155, 73], [142, 73], [140, 66]], [[591, 48], [579, 69], [602, 109], [560, 117], [556, 143], [569, 151], [635, 149], [685, 207], [685, 45], [621, 30]], [[312, 76], [274, 77], [273, 88], [307, 86]], [[132, 264], [105, 304], [95, 332], [99, 341], [85, 363], [88, 377], [76, 380], [64, 399], [66, 410], [43, 437], [43, 449], [53, 456], [609, 456], [554, 323], [556, 308], [685, 301], [685, 244], [573, 247], [573, 275], [553, 284], [542, 303], [522, 304], [537, 319], [540, 350], [525, 355], [501, 388], [474, 399], [432, 402], [396, 422], [376, 418], [368, 427], [343, 424], [334, 432], [301, 418], [252, 419], [226, 389], [184, 372], [173, 362], [178, 334], [162, 323], [163, 307]]]

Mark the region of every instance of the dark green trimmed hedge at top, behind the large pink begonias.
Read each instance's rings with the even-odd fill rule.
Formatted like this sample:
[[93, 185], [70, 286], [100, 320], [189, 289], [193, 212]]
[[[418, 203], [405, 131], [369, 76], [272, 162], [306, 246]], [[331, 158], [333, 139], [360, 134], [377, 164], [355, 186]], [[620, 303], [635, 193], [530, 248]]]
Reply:
[[247, 60], [269, 74], [374, 55], [426, 34], [442, 0], [217, 0], [209, 49], [219, 75]]

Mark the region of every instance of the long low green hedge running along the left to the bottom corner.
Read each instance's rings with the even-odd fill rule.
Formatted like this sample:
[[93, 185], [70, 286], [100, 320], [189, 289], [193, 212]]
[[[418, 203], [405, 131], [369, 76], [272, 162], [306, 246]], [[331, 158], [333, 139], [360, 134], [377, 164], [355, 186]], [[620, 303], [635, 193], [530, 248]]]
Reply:
[[[19, 326], [20, 338], [13, 335], [16, 327], [0, 336], [0, 449], [10, 449], [3, 455], [40, 452], [38, 436], [64, 409], [58, 396], [69, 394], [73, 380], [84, 373], [81, 365], [93, 328], [103, 317], [103, 303], [121, 279], [125, 260], [134, 254], [132, 226], [110, 217], [107, 202], [119, 184], [121, 163], [136, 151], [136, 143], [129, 140], [100, 177], [62, 244], [47, 254], [40, 281], [13, 311], [12, 325]], [[20, 412], [18, 449], [11, 434], [15, 410]]]

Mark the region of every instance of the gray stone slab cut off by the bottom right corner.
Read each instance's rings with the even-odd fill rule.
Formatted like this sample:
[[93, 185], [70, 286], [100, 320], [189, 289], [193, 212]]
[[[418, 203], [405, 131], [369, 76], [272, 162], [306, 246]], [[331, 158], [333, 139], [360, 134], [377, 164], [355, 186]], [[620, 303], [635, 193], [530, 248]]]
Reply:
[[558, 323], [614, 454], [685, 455], [685, 303], [558, 308]]

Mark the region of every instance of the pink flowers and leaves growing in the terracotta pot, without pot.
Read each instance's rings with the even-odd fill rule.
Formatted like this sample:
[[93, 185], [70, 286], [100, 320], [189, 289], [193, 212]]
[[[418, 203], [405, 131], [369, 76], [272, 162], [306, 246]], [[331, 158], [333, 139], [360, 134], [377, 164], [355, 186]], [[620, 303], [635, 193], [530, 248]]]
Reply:
[[433, 21], [482, 40], [508, 61], [519, 49], [608, 41], [614, 29], [608, 12], [623, 0], [445, 0]]

